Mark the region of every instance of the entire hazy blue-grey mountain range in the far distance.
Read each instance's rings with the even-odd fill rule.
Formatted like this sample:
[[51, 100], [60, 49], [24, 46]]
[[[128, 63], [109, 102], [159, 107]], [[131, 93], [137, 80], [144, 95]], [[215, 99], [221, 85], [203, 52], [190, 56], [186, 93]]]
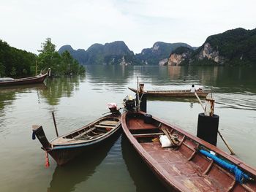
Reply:
[[193, 48], [186, 43], [156, 42], [153, 47], [143, 49], [141, 53], [134, 54], [122, 41], [110, 42], [105, 45], [94, 44], [88, 50], [73, 50], [70, 45], [64, 45], [59, 53], [67, 50], [80, 64], [159, 64], [167, 62], [170, 53], [177, 47]]

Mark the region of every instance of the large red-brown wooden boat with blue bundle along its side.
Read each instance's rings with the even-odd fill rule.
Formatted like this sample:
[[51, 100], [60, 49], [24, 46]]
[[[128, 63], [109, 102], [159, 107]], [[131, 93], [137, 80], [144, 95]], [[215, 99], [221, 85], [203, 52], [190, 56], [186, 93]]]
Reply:
[[[256, 191], [255, 169], [176, 126], [144, 112], [124, 112], [121, 125], [129, 142], [170, 191]], [[160, 135], [166, 135], [172, 147], [163, 148]], [[212, 152], [215, 155], [208, 155]]]

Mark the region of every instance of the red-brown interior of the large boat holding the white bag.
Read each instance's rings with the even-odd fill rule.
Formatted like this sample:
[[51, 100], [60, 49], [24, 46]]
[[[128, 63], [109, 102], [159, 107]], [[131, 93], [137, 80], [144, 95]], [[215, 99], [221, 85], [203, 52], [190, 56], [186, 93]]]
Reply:
[[[208, 150], [205, 146], [154, 118], [149, 123], [144, 120], [143, 114], [127, 114], [127, 127], [146, 151], [145, 158], [153, 158], [151, 163], [157, 164], [166, 178], [181, 183], [187, 191], [256, 191], [255, 183], [236, 182], [233, 173], [198, 152], [199, 148]], [[162, 147], [160, 135], [167, 135], [173, 145]]]

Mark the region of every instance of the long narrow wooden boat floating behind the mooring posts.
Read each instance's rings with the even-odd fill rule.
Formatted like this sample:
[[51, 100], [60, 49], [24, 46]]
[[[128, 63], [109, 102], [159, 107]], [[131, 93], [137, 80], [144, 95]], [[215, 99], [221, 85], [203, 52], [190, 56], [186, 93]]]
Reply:
[[[135, 88], [129, 88], [129, 90], [133, 91], [133, 92], [137, 92], [137, 89]], [[195, 97], [195, 93], [190, 92], [189, 90], [176, 90], [176, 91], [144, 91], [143, 93], [146, 93], [147, 96], [159, 96], [159, 97]], [[206, 97], [208, 95], [208, 93], [210, 93], [209, 91], [196, 91], [197, 96], [199, 97]]]

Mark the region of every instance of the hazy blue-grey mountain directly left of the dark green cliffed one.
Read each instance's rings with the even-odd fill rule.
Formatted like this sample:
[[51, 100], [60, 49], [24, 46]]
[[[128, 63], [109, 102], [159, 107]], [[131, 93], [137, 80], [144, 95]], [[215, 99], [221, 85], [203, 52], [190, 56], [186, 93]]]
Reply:
[[153, 47], [146, 48], [141, 53], [136, 54], [136, 57], [140, 59], [143, 64], [158, 65], [164, 64], [169, 58], [170, 53], [178, 47], [189, 47], [186, 43], [166, 43], [166, 42], [155, 42]]

